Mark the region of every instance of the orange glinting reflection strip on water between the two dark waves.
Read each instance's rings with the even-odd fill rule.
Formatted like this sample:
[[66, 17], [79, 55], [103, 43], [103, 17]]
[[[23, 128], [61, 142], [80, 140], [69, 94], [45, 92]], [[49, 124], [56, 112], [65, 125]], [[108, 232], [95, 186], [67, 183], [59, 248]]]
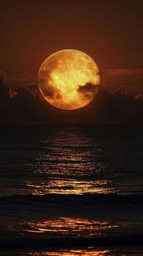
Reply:
[[25, 224], [27, 228], [23, 230], [24, 232], [49, 233], [50, 238], [55, 236], [55, 233], [66, 236], [99, 236], [103, 230], [117, 227], [109, 222], [69, 217], [48, 219], [43, 222], [26, 222]]

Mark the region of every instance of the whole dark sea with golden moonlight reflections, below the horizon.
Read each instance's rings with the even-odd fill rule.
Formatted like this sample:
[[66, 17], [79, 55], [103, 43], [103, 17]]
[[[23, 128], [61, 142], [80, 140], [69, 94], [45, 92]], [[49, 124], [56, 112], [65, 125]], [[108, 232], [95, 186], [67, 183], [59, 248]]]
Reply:
[[143, 255], [143, 127], [0, 131], [0, 255]]

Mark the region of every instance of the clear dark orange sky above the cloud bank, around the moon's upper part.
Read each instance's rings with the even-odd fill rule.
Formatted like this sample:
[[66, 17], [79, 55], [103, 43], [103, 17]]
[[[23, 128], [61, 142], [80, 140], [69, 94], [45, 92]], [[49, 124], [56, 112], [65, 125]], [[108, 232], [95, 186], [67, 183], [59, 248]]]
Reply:
[[143, 94], [143, 1], [1, 0], [0, 70], [11, 87], [37, 86], [47, 56], [88, 53], [109, 90]]

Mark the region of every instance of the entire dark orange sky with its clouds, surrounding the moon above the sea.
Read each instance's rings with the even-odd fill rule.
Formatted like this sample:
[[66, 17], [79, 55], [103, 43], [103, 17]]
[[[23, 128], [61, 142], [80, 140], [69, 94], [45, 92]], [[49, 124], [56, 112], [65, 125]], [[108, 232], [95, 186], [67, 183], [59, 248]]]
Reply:
[[[142, 29], [143, 1], [139, 0], [2, 0], [1, 123], [87, 122], [89, 116], [93, 123], [142, 122]], [[42, 61], [64, 48], [88, 53], [101, 72], [102, 89], [94, 102], [72, 113], [50, 107], [39, 99], [37, 89]]]

